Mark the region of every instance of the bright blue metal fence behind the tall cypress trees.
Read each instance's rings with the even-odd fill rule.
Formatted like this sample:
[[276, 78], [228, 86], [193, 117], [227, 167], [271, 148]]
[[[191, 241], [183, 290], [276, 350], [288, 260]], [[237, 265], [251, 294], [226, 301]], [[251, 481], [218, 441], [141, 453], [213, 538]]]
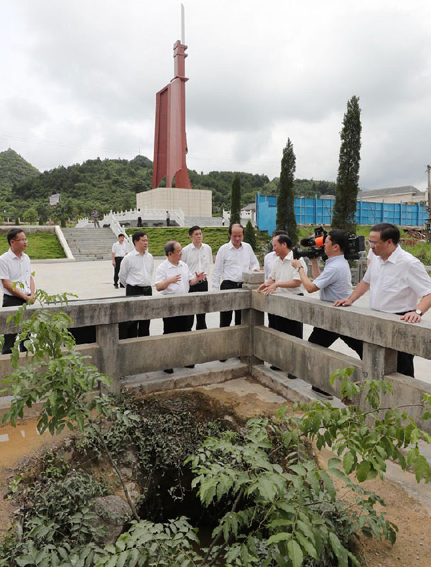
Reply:
[[[334, 199], [295, 198], [295, 216], [299, 225], [330, 225]], [[269, 234], [276, 228], [276, 196], [256, 195], [256, 223], [259, 230]], [[370, 203], [358, 201], [356, 221], [359, 225], [393, 223], [402, 226], [422, 226], [427, 220], [427, 211], [419, 203]]]

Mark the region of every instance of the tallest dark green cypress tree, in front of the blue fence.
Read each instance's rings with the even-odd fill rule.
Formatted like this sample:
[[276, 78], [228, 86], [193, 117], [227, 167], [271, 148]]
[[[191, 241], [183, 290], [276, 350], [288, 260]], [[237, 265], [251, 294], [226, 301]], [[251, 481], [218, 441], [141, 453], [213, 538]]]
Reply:
[[359, 162], [361, 161], [361, 109], [359, 97], [347, 101], [347, 112], [342, 121], [337, 187], [335, 189], [333, 228], [355, 232], [354, 215], [359, 191]]

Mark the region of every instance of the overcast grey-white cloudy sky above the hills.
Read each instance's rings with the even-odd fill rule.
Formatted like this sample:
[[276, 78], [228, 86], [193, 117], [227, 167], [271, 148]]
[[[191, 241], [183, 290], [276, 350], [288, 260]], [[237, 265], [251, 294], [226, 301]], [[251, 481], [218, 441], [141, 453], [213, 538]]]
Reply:
[[[347, 100], [362, 108], [360, 186], [426, 186], [431, 4], [185, 0], [187, 164], [337, 176]], [[0, 0], [0, 151], [40, 170], [152, 159], [155, 93], [173, 77], [173, 0]]]

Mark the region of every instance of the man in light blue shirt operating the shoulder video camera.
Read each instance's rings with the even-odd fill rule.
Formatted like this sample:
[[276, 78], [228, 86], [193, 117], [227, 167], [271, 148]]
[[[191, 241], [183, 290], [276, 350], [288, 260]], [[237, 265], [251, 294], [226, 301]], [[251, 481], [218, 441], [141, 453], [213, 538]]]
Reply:
[[[292, 266], [298, 269], [301, 282], [308, 293], [320, 291], [320, 299], [331, 303], [346, 296], [346, 292], [352, 293], [352, 275], [350, 274], [349, 262], [344, 257], [348, 242], [349, 237], [345, 230], [331, 230], [328, 233], [325, 238], [325, 254], [328, 256], [328, 260], [325, 262], [325, 267], [321, 273], [318, 259], [311, 259], [313, 281], [307, 276], [301, 262], [298, 259], [292, 260]], [[338, 338], [342, 339], [362, 358], [362, 341], [345, 337], [345, 335], [340, 335], [337, 332], [314, 327], [308, 342], [320, 344], [320, 347], [330, 347]], [[332, 395], [320, 390], [317, 386], [311, 386], [311, 388], [324, 398], [332, 399]]]

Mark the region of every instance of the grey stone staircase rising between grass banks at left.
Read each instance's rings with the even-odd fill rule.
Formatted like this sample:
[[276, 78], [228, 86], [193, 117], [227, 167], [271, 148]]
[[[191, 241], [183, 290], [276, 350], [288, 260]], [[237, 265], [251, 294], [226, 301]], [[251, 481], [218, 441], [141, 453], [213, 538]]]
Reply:
[[111, 259], [116, 237], [110, 228], [62, 228], [62, 232], [78, 262]]

